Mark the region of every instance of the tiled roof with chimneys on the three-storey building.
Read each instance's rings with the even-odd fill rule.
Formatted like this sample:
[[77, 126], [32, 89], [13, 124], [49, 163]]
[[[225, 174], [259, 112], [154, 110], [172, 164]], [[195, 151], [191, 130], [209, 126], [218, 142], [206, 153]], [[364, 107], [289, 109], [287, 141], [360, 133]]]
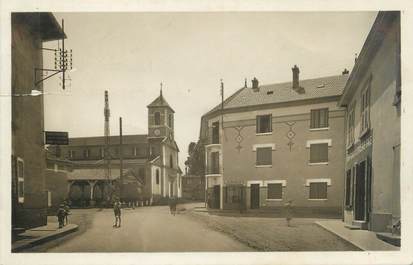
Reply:
[[[292, 82], [261, 85], [258, 91], [251, 87], [241, 88], [224, 101], [224, 109], [340, 96], [347, 79], [348, 75], [337, 75], [300, 80], [304, 93], [292, 89]], [[220, 108], [221, 104], [209, 113]]]

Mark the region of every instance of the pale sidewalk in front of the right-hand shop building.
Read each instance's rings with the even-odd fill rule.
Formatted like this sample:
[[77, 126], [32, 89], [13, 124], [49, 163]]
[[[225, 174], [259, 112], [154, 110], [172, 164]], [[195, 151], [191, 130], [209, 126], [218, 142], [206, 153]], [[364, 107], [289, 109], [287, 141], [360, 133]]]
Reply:
[[316, 224], [365, 251], [398, 251], [399, 247], [377, 238], [375, 232], [351, 230], [341, 220], [316, 221]]

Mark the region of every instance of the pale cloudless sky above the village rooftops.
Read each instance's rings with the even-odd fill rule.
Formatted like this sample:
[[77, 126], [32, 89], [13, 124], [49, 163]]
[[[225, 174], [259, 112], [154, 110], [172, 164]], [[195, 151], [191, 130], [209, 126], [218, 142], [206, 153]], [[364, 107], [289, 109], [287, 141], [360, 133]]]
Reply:
[[[377, 12], [55, 13], [73, 50], [71, 81], [44, 82], [45, 130], [69, 137], [104, 134], [109, 91], [111, 135], [147, 134], [147, 108], [163, 95], [175, 110], [175, 140], [184, 168], [201, 116], [257, 77], [260, 84], [351, 71]], [[56, 41], [44, 47], [56, 48]], [[53, 56], [44, 54], [44, 67]]]

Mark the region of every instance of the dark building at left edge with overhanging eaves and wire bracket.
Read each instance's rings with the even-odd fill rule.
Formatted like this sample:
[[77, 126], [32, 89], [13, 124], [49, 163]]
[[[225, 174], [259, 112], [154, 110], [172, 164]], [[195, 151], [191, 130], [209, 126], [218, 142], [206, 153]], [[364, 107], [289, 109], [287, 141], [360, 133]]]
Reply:
[[30, 95], [35, 68], [43, 66], [43, 42], [65, 38], [51, 13], [12, 13], [12, 226], [31, 228], [47, 223], [43, 96]]

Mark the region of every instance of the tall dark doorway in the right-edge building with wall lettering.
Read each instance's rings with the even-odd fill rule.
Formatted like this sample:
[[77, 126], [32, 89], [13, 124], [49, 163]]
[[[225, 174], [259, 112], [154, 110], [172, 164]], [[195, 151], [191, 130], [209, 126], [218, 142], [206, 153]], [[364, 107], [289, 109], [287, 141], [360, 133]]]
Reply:
[[366, 220], [366, 162], [363, 161], [356, 167], [356, 194], [355, 194], [356, 221]]

